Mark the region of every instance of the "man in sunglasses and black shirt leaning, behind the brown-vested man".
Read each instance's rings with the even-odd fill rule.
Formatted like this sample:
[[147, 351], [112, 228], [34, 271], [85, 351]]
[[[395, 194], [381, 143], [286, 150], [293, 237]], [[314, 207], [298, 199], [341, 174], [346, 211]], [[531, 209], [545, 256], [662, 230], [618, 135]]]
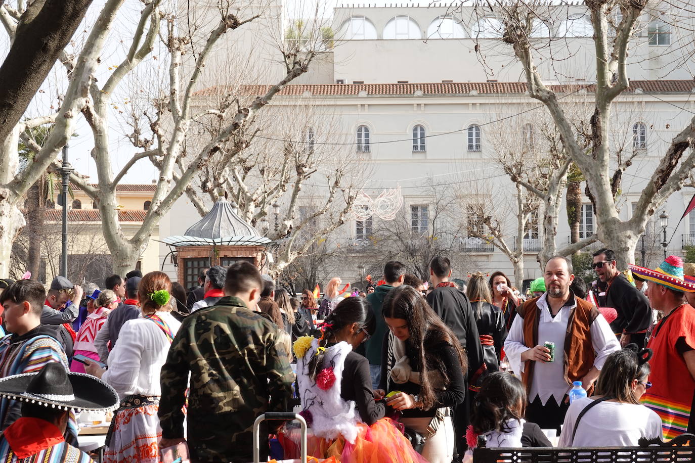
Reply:
[[618, 317], [610, 328], [619, 337], [621, 346], [634, 342], [646, 346], [647, 330], [652, 325], [652, 310], [646, 296], [616, 268], [615, 253], [603, 248], [594, 253], [592, 264], [598, 279], [607, 285], [604, 307], [612, 307]]

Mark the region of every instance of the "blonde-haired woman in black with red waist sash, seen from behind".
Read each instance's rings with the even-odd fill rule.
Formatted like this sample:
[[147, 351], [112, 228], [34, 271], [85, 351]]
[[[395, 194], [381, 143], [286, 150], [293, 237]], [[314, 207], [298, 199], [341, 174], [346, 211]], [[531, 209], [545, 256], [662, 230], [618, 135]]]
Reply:
[[492, 305], [490, 286], [480, 271], [473, 273], [468, 280], [466, 296], [473, 306], [487, 371], [498, 371], [507, 328], [505, 328], [505, 317], [502, 316], [502, 311], [496, 305]]

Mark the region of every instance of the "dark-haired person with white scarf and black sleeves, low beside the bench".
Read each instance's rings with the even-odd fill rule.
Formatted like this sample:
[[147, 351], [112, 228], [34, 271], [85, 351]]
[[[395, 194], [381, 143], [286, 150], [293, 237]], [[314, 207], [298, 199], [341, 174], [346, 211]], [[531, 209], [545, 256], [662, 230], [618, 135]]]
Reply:
[[479, 436], [486, 447], [552, 447], [536, 423], [523, 419], [527, 402], [526, 389], [516, 376], [504, 371], [487, 376], [473, 401], [464, 463], [473, 460]]

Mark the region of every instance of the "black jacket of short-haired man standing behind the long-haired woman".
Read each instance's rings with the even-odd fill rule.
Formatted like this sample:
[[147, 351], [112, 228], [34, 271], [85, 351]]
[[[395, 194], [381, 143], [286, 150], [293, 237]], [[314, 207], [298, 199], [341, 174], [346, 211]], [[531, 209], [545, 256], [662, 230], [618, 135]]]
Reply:
[[459, 339], [468, 355], [468, 384], [475, 385], [484, 362], [475, 314], [468, 296], [455, 287], [437, 287], [427, 294], [427, 303]]

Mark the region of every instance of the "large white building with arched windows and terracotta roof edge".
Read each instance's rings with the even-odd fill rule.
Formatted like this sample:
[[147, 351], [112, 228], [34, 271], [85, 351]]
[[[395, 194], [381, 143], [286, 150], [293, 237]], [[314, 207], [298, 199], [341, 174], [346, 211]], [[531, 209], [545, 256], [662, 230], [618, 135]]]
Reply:
[[[594, 97], [590, 86], [594, 66], [587, 65], [594, 61], [591, 26], [582, 7], [564, 7], [563, 11], [564, 20], [553, 22], [548, 17], [536, 31], [539, 41], [564, 37], [566, 49], [555, 53], [564, 52], [569, 58], [558, 61], [554, 68], [548, 60], [540, 68], [544, 75], [548, 74], [548, 83], [559, 84], [557, 75], [551, 72], [562, 66], [562, 84], [579, 87], [560, 94], [578, 107], [589, 103], [590, 113]], [[642, 32], [635, 37], [630, 51], [630, 90], [614, 104], [616, 142], [630, 151], [639, 151], [624, 174], [619, 196], [623, 219], [629, 219], [632, 204], [670, 140], [689, 123], [695, 110], [695, 82], [687, 66], [679, 65], [671, 54], [680, 47], [678, 31], [671, 31], [667, 22], [654, 19], [651, 13], [644, 15], [641, 24]], [[432, 185], [463, 196], [463, 214], [465, 203], [500, 203], [502, 208], [502, 203], [514, 197], [515, 190], [493, 161], [491, 131], [497, 137], [501, 133], [500, 123], [495, 121], [505, 120], [505, 130], [517, 133], [527, 130], [527, 124], [536, 131], [546, 117], [544, 108], [518, 115], [539, 106], [539, 102], [526, 94], [520, 65], [510, 55], [509, 46], [498, 40], [499, 27], [495, 17], [476, 17], [472, 10], [452, 13], [446, 6], [336, 8], [334, 30], [340, 39], [336, 47], [302, 76], [301, 84], [290, 85], [276, 96], [272, 106], [295, 106], [300, 101], [320, 108], [317, 114], [321, 117], [328, 115], [338, 120], [332, 132], [336, 137], [354, 140], [354, 155], [368, 176], [365, 191], [377, 195], [400, 186], [402, 207], [412, 230], [432, 233]], [[489, 50], [484, 62], [474, 51], [476, 42]], [[558, 54], [554, 56], [560, 58]], [[586, 88], [581, 90], [582, 86]], [[695, 212], [676, 227], [693, 194], [692, 188], [677, 192], [665, 207], [670, 216], [667, 235], [675, 234], [669, 253], [682, 253], [685, 245], [695, 244]], [[188, 227], [188, 222], [180, 220], [183, 213], [183, 217], [195, 217], [195, 210], [185, 198], [162, 221], [161, 236], [177, 235]], [[539, 211], [539, 217], [542, 213]], [[516, 235], [516, 219], [512, 212], [505, 216], [502, 219], [511, 242]], [[465, 278], [466, 272], [475, 270], [502, 270], [511, 276], [512, 264], [503, 253], [466, 235], [466, 221], [472, 226], [476, 217], [461, 219], [464, 226], [457, 239], [469, 259], [465, 266], [453, 262], [457, 276]], [[339, 229], [338, 242], [368, 242], [372, 226], [370, 221], [345, 224]], [[580, 236], [591, 235], [594, 226], [593, 208], [584, 198]], [[532, 226], [526, 235], [525, 279], [541, 276], [536, 262], [539, 233], [542, 227], [539, 230]], [[663, 255], [660, 234], [655, 218], [646, 233], [645, 245], [647, 264], [652, 266]], [[569, 235], [563, 212], [557, 244], [568, 242]], [[638, 245], [637, 262], [639, 248]], [[166, 252], [163, 247], [161, 258]], [[357, 265], [370, 263], [363, 262], [365, 259], [380, 262], [384, 256], [356, 252], [334, 273], [345, 282], [357, 282]], [[174, 275], [169, 262], [164, 262], [164, 269]], [[331, 276], [334, 275], [327, 275], [325, 280]]]

